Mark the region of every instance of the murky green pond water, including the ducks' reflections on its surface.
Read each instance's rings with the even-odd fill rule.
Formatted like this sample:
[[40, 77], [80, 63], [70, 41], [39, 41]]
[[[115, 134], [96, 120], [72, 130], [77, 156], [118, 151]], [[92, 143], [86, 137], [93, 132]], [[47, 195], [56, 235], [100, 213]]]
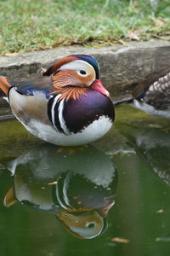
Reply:
[[169, 256], [169, 127], [126, 106], [98, 142], [58, 148], [1, 121], [0, 256]]

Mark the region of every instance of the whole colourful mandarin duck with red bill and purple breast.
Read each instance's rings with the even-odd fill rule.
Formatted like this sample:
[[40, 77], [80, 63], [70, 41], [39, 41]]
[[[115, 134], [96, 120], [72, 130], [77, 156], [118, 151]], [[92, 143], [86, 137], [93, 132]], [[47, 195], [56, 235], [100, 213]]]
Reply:
[[60, 146], [91, 143], [111, 129], [115, 113], [90, 55], [69, 55], [37, 78], [9, 84], [0, 77], [17, 119], [36, 137]]

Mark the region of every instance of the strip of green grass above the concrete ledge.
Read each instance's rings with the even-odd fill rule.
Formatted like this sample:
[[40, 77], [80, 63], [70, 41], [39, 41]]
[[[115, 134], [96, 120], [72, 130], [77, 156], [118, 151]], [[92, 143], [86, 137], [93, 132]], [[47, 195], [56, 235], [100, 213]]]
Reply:
[[0, 54], [170, 35], [169, 0], [0, 0]]

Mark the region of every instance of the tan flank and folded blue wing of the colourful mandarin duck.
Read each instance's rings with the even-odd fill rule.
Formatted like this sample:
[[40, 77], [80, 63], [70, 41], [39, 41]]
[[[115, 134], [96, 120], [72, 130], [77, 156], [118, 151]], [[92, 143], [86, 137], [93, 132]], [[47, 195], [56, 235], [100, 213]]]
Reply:
[[17, 119], [26, 125], [26, 129], [31, 119], [49, 124], [47, 108], [50, 92], [53, 91], [51, 78], [41, 77], [11, 84], [8, 90], [9, 104]]

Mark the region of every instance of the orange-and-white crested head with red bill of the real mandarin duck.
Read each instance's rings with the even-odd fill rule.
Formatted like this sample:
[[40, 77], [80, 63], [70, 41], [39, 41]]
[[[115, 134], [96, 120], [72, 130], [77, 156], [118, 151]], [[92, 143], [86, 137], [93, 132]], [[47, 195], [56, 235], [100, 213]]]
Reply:
[[90, 55], [70, 55], [49, 67], [44, 76], [51, 76], [54, 88], [68, 89], [81, 88], [87, 90], [93, 88], [105, 96], [109, 96], [99, 80], [99, 63]]

